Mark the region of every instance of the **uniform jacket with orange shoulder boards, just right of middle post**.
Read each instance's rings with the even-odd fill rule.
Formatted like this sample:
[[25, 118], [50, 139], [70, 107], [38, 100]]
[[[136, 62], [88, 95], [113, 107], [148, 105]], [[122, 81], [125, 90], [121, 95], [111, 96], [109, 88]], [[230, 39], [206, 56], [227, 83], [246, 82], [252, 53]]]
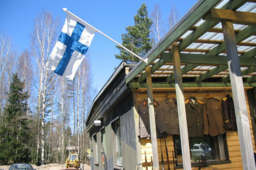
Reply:
[[204, 136], [203, 102], [191, 96], [185, 101], [188, 137]]

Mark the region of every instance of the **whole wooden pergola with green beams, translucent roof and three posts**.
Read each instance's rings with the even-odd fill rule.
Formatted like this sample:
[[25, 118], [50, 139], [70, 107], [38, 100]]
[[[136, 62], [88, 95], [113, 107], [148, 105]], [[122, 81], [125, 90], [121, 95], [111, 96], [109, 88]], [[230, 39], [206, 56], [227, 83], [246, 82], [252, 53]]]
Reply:
[[[154, 169], [159, 169], [153, 88], [174, 88], [182, 159], [191, 169], [184, 87], [230, 88], [243, 168], [255, 168], [245, 87], [256, 87], [256, 1], [199, 0], [126, 76], [129, 88], [146, 88]], [[152, 83], [154, 79], [154, 83]], [[185, 83], [183, 83], [185, 81]]]

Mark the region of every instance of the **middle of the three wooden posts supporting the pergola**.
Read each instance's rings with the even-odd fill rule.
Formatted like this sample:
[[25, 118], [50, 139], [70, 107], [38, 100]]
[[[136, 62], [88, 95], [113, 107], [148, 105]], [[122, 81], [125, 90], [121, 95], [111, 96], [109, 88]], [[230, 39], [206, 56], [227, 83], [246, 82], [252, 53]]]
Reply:
[[172, 45], [172, 53], [173, 53], [173, 63], [174, 63], [175, 90], [176, 90], [177, 106], [178, 106], [178, 113], [179, 113], [183, 169], [190, 170], [191, 162], [190, 162], [190, 150], [189, 150], [189, 141], [188, 141], [188, 133], [187, 133], [187, 118], [186, 118], [186, 110], [185, 110], [183, 84], [182, 84], [182, 78], [181, 78], [180, 54], [179, 54], [177, 42], [175, 42]]

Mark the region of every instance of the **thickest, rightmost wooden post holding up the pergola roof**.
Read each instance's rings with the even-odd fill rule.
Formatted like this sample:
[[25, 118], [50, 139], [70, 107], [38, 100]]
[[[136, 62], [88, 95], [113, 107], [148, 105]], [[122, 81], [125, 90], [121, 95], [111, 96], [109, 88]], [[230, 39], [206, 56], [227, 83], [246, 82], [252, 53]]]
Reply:
[[243, 169], [255, 170], [256, 168], [253, 156], [244, 86], [233, 23], [232, 21], [222, 21], [221, 23], [227, 52], [229, 76], [234, 100], [234, 110], [236, 112]]

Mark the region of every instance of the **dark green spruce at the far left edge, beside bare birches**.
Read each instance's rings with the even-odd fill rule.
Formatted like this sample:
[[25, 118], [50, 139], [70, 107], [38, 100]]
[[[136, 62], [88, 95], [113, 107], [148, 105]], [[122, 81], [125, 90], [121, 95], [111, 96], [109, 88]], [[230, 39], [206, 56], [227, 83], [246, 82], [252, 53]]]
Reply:
[[29, 162], [30, 129], [28, 128], [28, 92], [25, 84], [14, 74], [8, 93], [8, 103], [4, 110], [6, 124], [0, 129], [0, 163]]

